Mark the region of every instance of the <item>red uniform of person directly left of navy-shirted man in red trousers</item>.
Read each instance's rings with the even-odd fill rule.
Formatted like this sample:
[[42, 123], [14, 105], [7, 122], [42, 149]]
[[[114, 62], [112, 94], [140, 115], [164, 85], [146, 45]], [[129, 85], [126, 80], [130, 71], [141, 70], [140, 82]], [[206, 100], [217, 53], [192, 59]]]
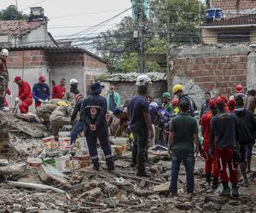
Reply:
[[217, 164], [216, 150], [214, 149], [212, 158], [209, 155], [212, 117], [213, 117], [213, 114], [211, 111], [209, 111], [205, 113], [201, 118], [201, 126], [203, 128], [202, 136], [204, 138], [202, 152], [203, 152], [203, 157], [206, 160], [206, 167], [205, 167], [206, 174], [212, 173], [212, 164], [213, 164], [213, 177], [218, 177], [218, 164]]

